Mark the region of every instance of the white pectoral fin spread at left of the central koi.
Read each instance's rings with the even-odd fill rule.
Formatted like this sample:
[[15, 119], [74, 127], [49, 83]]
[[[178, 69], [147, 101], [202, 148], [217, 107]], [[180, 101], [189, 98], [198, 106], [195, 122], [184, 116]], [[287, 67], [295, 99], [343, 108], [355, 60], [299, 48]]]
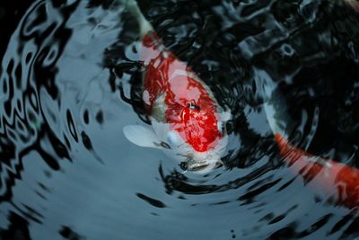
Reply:
[[157, 138], [152, 129], [142, 125], [127, 125], [123, 128], [125, 137], [140, 147], [162, 148], [161, 140]]

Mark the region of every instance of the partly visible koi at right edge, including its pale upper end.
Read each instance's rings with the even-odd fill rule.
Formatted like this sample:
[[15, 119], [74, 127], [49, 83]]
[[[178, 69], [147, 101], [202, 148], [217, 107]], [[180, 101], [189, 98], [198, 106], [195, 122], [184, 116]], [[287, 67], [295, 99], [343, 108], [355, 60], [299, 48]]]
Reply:
[[[263, 73], [260, 73], [263, 76]], [[359, 170], [346, 164], [314, 156], [310, 153], [294, 147], [288, 140], [284, 129], [283, 120], [285, 110], [280, 93], [276, 93], [276, 84], [268, 81], [269, 76], [265, 77], [265, 84], [259, 85], [262, 93], [268, 96], [265, 102], [267, 121], [274, 133], [279, 153], [291, 172], [302, 176], [303, 182], [315, 189], [316, 193], [323, 198], [328, 198], [330, 202], [337, 205], [346, 206], [354, 209], [359, 206]], [[276, 106], [275, 100], [280, 102]], [[272, 101], [272, 102], [271, 102]], [[279, 109], [281, 108], [281, 109]]]

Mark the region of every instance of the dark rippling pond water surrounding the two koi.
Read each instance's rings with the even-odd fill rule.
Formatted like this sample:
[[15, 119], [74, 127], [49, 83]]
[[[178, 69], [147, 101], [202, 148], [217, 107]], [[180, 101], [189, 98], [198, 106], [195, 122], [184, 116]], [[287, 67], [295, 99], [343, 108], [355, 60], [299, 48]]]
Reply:
[[145, 124], [138, 27], [113, 1], [0, 7], [1, 239], [353, 239], [353, 209], [278, 155], [256, 84], [279, 83], [292, 140], [359, 167], [359, 15], [336, 1], [138, 1], [231, 107], [231, 155], [183, 173]]

